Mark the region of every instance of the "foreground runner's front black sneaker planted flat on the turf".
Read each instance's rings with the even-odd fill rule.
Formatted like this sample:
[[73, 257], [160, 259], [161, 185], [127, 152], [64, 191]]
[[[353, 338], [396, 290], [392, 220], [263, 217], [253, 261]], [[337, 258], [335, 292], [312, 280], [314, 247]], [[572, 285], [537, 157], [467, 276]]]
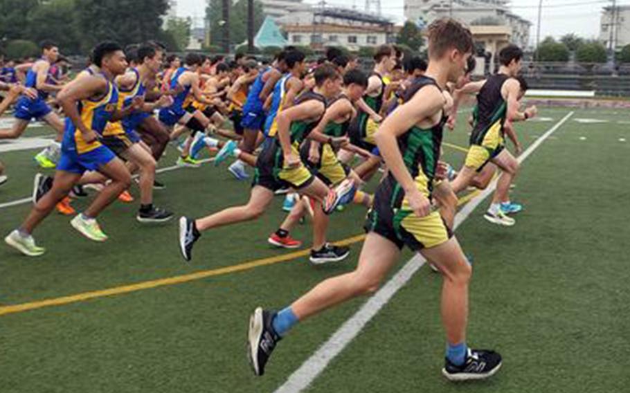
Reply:
[[442, 374], [449, 381], [473, 381], [493, 376], [501, 369], [501, 355], [485, 349], [468, 349], [466, 361], [460, 366], [453, 365], [447, 358]]

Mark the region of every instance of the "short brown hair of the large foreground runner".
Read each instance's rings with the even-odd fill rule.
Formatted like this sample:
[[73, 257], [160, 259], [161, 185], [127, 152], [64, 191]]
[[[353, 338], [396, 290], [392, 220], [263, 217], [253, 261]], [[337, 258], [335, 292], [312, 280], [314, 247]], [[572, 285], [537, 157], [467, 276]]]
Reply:
[[429, 57], [442, 57], [450, 48], [472, 53], [472, 34], [455, 19], [442, 18], [429, 25]]

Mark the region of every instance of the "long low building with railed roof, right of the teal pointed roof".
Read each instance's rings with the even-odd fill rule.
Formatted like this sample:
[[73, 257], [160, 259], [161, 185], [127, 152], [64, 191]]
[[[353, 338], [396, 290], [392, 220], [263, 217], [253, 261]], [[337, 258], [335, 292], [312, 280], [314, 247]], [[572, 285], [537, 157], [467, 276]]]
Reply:
[[345, 8], [313, 8], [276, 22], [287, 33], [291, 45], [343, 46], [350, 51], [390, 44], [398, 30], [387, 18]]

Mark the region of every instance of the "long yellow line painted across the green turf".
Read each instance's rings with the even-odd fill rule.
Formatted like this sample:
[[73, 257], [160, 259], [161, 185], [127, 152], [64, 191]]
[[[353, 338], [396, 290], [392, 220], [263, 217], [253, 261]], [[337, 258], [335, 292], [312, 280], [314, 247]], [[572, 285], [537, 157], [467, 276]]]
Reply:
[[[459, 199], [458, 205], [467, 203], [468, 201], [476, 197], [478, 193], [479, 193], [478, 191], [474, 191], [474, 192], [471, 192], [470, 194], [467, 194], [465, 197], [462, 197], [461, 199]], [[350, 244], [359, 243], [359, 241], [363, 241], [363, 239], [365, 238], [366, 238], [366, 235], [357, 235], [353, 237], [348, 237], [347, 239], [336, 241], [335, 244], [339, 246], [349, 246]], [[309, 253], [310, 253], [310, 250], [300, 250], [300, 251], [295, 251], [294, 253], [277, 255], [275, 257], [255, 259], [254, 261], [244, 262], [242, 264], [237, 264], [234, 266], [226, 266], [223, 268], [216, 268], [216, 269], [211, 269], [211, 270], [206, 270], [206, 271], [198, 271], [195, 273], [190, 273], [190, 274], [185, 274], [185, 275], [177, 275], [174, 277], [161, 278], [158, 280], [138, 282], [136, 284], [114, 286], [112, 288], [101, 289], [99, 291], [90, 291], [90, 292], [84, 292], [84, 293], [77, 293], [76, 295], [62, 296], [61, 298], [51, 298], [51, 299], [37, 300], [35, 302], [3, 306], [3, 307], [0, 307], [0, 316], [6, 316], [8, 314], [13, 314], [13, 313], [23, 313], [24, 311], [42, 309], [44, 307], [63, 306], [65, 304], [84, 302], [86, 300], [91, 300], [91, 299], [96, 299], [96, 298], [105, 298], [106, 296], [122, 295], [123, 293], [143, 291], [145, 289], [157, 288], [159, 286], [183, 284], [184, 282], [201, 280], [206, 277], [215, 277], [217, 275], [226, 275], [230, 273], [237, 273], [240, 271], [248, 271], [253, 268], [260, 267], [260, 266], [273, 265], [273, 264], [278, 264], [280, 262], [288, 262], [296, 258], [305, 257], [309, 255]]]

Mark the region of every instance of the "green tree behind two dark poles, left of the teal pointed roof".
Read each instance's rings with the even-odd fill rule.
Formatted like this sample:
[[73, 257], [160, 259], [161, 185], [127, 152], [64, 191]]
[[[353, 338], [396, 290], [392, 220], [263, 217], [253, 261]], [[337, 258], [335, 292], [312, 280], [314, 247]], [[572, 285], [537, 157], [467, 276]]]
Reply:
[[[221, 45], [223, 39], [222, 0], [210, 0], [206, 8], [206, 17], [210, 21], [210, 43]], [[260, 0], [254, 0], [254, 31], [258, 31], [264, 21], [264, 12]], [[230, 44], [238, 45], [247, 40], [247, 0], [238, 0], [230, 8]], [[254, 33], [255, 34], [255, 33]]]

